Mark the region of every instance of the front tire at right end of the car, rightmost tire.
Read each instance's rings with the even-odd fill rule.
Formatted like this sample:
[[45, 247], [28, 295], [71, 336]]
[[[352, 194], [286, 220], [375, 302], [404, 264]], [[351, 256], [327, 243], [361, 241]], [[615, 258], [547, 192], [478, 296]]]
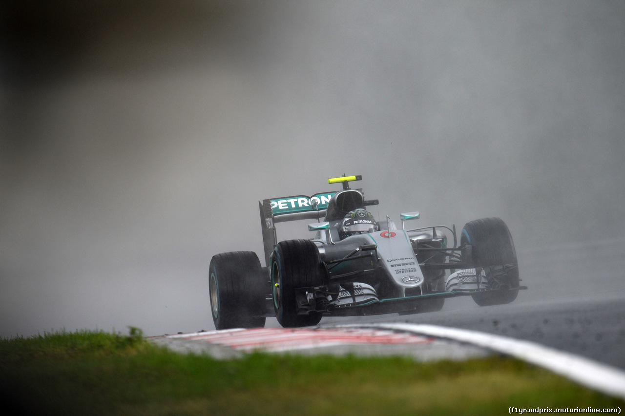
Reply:
[[461, 247], [472, 246], [473, 267], [507, 265], [504, 288], [472, 294], [480, 306], [509, 304], [519, 294], [519, 263], [514, 242], [506, 223], [500, 218], [484, 218], [467, 222], [460, 237]]

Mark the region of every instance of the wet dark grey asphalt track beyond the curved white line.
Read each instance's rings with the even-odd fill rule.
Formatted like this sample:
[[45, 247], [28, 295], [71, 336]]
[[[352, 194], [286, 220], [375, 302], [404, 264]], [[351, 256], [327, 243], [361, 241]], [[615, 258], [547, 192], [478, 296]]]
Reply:
[[326, 318], [321, 326], [410, 322], [471, 329], [529, 340], [625, 369], [625, 297], [571, 298], [491, 307], [477, 307], [471, 299], [463, 298], [449, 300], [447, 305], [441, 312], [427, 314]]

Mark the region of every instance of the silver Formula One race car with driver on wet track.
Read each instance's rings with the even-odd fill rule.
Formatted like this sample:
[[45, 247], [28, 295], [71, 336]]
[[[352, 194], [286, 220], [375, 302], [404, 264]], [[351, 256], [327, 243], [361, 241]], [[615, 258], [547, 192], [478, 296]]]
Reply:
[[[455, 225], [406, 229], [419, 212], [401, 214], [398, 229], [389, 217], [377, 221], [367, 210], [377, 200], [350, 189], [350, 181], [361, 179], [329, 179], [342, 183], [338, 192], [259, 202], [267, 267], [249, 251], [212, 257], [216, 329], [262, 327], [272, 316], [283, 327], [302, 327], [322, 316], [429, 312], [460, 295], [480, 306], [507, 304], [527, 289], [519, 285], [514, 243], [501, 219], [467, 222], [459, 245]], [[301, 219], [317, 220], [308, 225], [315, 237], [278, 242], [276, 224]]]

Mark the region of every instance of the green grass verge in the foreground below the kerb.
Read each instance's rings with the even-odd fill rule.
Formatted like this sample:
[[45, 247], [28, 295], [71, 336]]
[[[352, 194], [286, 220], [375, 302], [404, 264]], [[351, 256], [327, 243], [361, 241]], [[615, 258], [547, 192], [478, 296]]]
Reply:
[[2, 409], [36, 415], [502, 415], [509, 407], [621, 407], [518, 360], [254, 353], [219, 361], [131, 334], [0, 339]]

